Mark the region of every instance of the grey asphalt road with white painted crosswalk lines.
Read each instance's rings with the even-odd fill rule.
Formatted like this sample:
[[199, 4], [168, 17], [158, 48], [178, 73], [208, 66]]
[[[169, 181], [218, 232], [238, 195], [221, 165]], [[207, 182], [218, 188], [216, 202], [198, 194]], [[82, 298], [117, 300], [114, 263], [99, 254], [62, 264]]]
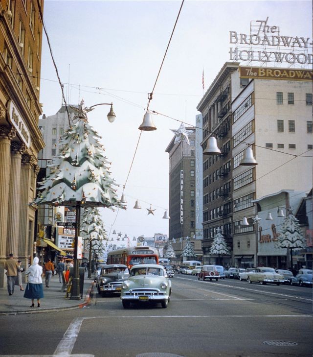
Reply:
[[312, 357], [312, 288], [175, 275], [167, 309], [95, 295], [81, 310], [0, 316], [1, 356]]

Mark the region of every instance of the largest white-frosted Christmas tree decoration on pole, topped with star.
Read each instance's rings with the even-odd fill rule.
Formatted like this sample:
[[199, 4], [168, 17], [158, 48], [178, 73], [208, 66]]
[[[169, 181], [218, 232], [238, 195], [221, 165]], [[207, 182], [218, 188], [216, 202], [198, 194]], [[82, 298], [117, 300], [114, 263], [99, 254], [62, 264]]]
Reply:
[[72, 125], [61, 140], [58, 156], [49, 163], [51, 171], [41, 183], [42, 190], [34, 203], [76, 207], [74, 240], [74, 278], [71, 299], [79, 300], [78, 233], [81, 207], [125, 208], [117, 198], [111, 178], [111, 164], [104, 155], [100, 136], [91, 128], [87, 113], [93, 108], [84, 107], [82, 100], [75, 111]]

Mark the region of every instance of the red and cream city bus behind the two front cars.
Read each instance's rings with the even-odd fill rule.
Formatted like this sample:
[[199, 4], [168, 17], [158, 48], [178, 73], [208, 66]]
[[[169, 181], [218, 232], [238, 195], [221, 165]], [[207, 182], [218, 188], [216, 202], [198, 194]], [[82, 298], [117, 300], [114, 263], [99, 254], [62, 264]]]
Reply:
[[129, 247], [108, 253], [107, 264], [125, 264], [129, 268], [137, 264], [158, 264], [158, 250], [154, 247]]

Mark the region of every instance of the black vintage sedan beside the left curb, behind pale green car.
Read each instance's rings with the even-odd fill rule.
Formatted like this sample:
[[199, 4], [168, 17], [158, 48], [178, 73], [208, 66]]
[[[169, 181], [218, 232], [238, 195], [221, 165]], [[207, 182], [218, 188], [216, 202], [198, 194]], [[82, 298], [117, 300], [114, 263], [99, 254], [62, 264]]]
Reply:
[[98, 293], [103, 297], [107, 293], [120, 293], [122, 282], [128, 277], [129, 270], [124, 264], [103, 265], [96, 280]]

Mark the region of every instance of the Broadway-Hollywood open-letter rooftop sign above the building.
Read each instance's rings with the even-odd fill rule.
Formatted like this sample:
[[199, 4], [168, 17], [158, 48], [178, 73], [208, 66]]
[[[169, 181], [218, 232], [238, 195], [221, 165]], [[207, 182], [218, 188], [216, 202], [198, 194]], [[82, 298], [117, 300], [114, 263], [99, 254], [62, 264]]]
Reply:
[[[256, 20], [256, 23], [258, 26], [250, 35], [229, 31], [230, 44], [240, 46], [230, 48], [231, 60], [312, 65], [310, 37], [280, 36], [279, 27], [268, 25], [268, 18]], [[242, 49], [243, 46], [249, 46], [249, 49]]]

